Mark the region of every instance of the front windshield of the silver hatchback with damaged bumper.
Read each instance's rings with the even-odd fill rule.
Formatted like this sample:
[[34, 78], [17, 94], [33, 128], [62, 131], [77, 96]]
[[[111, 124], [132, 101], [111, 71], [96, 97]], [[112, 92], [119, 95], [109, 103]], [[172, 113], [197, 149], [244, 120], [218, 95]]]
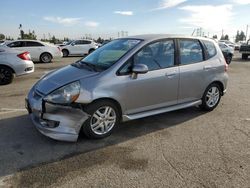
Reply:
[[94, 67], [95, 71], [103, 71], [115, 64], [123, 55], [140, 42], [141, 40], [138, 39], [113, 40], [76, 63]]

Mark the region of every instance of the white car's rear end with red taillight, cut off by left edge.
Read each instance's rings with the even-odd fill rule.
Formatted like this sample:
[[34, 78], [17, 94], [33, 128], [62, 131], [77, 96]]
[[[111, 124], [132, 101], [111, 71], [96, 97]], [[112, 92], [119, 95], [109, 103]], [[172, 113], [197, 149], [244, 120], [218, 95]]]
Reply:
[[22, 52], [0, 46], [0, 85], [10, 84], [15, 76], [34, 72], [29, 52]]

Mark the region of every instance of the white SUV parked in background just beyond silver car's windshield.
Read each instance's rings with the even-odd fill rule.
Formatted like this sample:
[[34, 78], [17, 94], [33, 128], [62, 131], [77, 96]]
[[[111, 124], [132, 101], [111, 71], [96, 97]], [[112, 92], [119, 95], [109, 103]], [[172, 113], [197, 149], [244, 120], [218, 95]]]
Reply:
[[72, 40], [65, 46], [61, 45], [63, 57], [69, 55], [86, 55], [98, 48], [97, 44], [92, 40], [80, 39]]

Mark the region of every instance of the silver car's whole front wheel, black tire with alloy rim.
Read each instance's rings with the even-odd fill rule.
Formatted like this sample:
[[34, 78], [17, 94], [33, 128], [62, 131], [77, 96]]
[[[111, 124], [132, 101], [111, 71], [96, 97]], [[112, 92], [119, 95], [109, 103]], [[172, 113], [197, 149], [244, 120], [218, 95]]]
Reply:
[[[112, 101], [97, 101], [85, 107], [84, 110], [90, 115], [82, 126], [82, 131], [88, 138], [108, 137], [120, 122], [120, 112]], [[106, 111], [108, 113], [105, 114]]]

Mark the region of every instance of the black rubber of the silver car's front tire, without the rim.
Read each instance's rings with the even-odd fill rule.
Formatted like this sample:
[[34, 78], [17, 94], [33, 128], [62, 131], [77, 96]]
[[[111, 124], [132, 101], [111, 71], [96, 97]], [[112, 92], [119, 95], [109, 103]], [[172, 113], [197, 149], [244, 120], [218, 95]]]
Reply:
[[[103, 135], [98, 135], [98, 134], [95, 134], [92, 131], [91, 126], [90, 126], [90, 120], [91, 120], [92, 115], [96, 112], [96, 110], [98, 110], [99, 108], [101, 108], [103, 106], [110, 106], [110, 107], [112, 107], [115, 110], [115, 113], [116, 113], [116, 123], [115, 123], [115, 125], [113, 126], [113, 128], [109, 132], [107, 132], [106, 134], [103, 134]], [[99, 139], [99, 138], [108, 137], [109, 135], [111, 135], [111, 133], [116, 128], [117, 124], [120, 122], [120, 117], [121, 116], [120, 116], [120, 112], [118, 110], [118, 107], [112, 101], [109, 101], [109, 100], [106, 100], [106, 101], [103, 100], [103, 101], [97, 101], [97, 102], [91, 103], [91, 104], [89, 104], [88, 106], [86, 106], [84, 108], [84, 111], [88, 115], [90, 115], [90, 117], [82, 125], [82, 132], [88, 138]]]

